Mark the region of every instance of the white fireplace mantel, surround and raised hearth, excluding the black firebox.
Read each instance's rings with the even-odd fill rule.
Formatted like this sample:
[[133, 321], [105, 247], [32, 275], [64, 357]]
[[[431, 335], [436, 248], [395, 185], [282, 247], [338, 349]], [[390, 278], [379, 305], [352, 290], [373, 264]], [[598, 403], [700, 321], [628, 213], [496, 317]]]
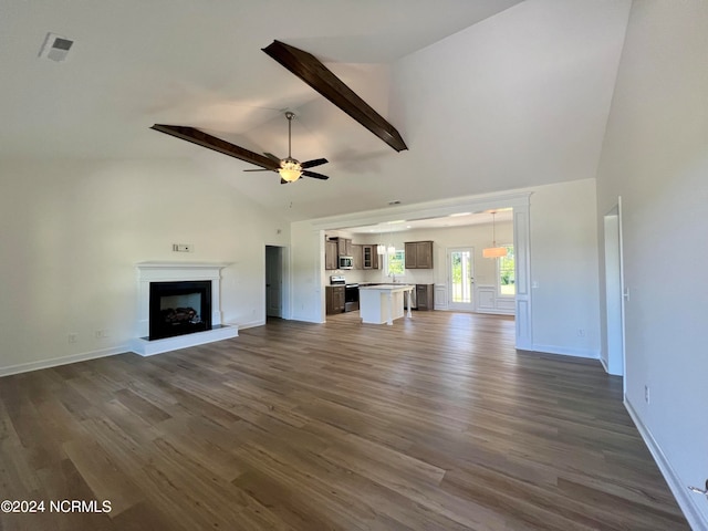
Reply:
[[[143, 356], [158, 354], [187, 346], [195, 346], [238, 335], [237, 326], [221, 324], [221, 270], [230, 266], [226, 262], [139, 262], [137, 337], [133, 352]], [[211, 326], [212, 330], [194, 334], [147, 341], [149, 335], [150, 282], [211, 281]]]

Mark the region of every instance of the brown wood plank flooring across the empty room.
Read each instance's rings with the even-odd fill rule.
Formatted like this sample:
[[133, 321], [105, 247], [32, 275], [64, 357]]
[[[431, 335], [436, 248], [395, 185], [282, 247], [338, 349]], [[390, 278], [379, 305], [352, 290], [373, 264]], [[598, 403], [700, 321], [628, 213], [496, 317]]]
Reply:
[[621, 379], [517, 352], [513, 326], [277, 320], [0, 378], [0, 499], [48, 504], [0, 529], [688, 529]]

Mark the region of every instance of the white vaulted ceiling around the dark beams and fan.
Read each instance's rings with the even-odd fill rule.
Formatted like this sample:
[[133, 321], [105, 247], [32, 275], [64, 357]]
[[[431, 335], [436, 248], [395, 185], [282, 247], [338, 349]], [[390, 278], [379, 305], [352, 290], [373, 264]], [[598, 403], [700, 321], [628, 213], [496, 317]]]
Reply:
[[[2, 0], [0, 157], [189, 157], [291, 219], [594, 177], [629, 0]], [[38, 58], [48, 32], [75, 40]], [[280, 66], [322, 60], [385, 116], [397, 154]], [[10, 75], [11, 74], [11, 75]], [[285, 156], [272, 173], [149, 129], [191, 125]], [[146, 176], [149, 178], [149, 176]]]

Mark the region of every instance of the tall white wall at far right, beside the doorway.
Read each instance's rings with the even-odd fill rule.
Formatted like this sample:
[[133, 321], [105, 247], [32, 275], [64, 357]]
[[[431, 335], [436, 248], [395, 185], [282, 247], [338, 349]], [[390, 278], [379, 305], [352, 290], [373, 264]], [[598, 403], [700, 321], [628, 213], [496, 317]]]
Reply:
[[598, 219], [617, 196], [629, 290], [626, 402], [694, 529], [708, 529], [708, 501], [686, 489], [708, 478], [705, 0], [633, 4], [597, 176]]

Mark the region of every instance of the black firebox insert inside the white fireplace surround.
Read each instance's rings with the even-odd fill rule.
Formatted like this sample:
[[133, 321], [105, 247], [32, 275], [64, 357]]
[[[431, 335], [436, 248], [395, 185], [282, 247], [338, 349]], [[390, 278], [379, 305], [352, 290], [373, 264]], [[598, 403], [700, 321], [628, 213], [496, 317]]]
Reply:
[[211, 330], [211, 281], [150, 282], [149, 341]]

